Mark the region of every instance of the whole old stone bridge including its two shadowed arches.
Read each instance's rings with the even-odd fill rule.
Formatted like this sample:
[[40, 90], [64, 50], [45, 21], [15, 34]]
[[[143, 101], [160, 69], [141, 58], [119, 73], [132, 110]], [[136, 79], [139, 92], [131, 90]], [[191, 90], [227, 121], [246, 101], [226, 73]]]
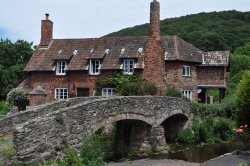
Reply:
[[41, 162], [60, 156], [65, 139], [79, 149], [84, 132], [111, 124], [117, 144], [164, 150], [192, 113], [186, 102], [173, 97], [90, 97], [50, 103], [12, 119], [16, 159]]

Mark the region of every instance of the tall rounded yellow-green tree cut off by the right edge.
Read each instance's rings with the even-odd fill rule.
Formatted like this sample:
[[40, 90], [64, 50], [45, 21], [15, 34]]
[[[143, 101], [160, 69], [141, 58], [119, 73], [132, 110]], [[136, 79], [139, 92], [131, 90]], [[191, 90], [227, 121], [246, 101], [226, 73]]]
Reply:
[[250, 70], [243, 75], [236, 92], [238, 124], [250, 125]]

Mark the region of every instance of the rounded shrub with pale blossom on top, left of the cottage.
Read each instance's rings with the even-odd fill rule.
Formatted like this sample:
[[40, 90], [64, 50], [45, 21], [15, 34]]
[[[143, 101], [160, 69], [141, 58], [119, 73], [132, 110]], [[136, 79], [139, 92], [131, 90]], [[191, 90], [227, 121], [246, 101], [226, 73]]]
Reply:
[[26, 109], [28, 94], [27, 89], [15, 88], [8, 93], [7, 100], [16, 105], [19, 111], [23, 111]]

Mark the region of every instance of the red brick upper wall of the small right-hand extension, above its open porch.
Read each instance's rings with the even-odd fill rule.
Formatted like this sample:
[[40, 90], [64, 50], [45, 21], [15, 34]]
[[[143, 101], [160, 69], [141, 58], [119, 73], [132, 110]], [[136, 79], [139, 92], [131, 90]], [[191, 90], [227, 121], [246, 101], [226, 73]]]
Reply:
[[223, 66], [198, 67], [198, 85], [226, 85], [225, 70]]

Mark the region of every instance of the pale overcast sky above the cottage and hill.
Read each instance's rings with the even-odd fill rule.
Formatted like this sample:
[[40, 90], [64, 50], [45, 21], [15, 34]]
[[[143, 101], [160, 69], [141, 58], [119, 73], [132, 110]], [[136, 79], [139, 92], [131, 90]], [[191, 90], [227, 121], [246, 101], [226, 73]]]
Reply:
[[[152, 0], [0, 0], [0, 38], [38, 44], [45, 13], [54, 38], [93, 38], [149, 22]], [[249, 11], [250, 0], [159, 0], [161, 19], [199, 12]]]

